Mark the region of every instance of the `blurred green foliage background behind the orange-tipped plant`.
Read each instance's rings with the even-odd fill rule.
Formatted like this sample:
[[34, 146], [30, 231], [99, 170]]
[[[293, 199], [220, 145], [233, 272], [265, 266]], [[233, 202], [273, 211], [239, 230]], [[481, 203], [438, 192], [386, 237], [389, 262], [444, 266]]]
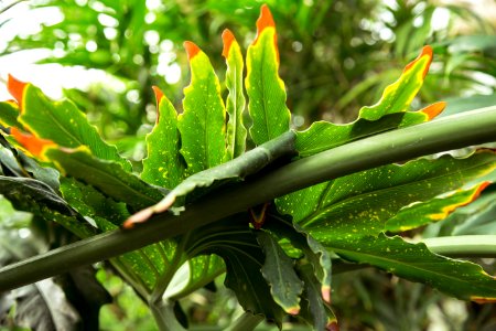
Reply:
[[[2, 1], [0, 8], [13, 2]], [[0, 77], [12, 73], [73, 99], [140, 167], [157, 115], [151, 86], [161, 87], [181, 109], [188, 82], [182, 43], [190, 40], [204, 50], [223, 82], [222, 31], [234, 31], [246, 51], [261, 3], [269, 4], [277, 22], [280, 75], [294, 128], [320, 119], [353, 120], [424, 44], [433, 46], [434, 61], [416, 109], [438, 100], [449, 102], [445, 114], [496, 104], [492, 0], [22, 1], [0, 14]], [[21, 58], [36, 64], [20, 65]], [[485, 263], [494, 268], [494, 260]], [[129, 287], [111, 270], [101, 269], [98, 277], [115, 298], [101, 310], [103, 330], [153, 330], [152, 318]], [[334, 289], [342, 330], [496, 329], [495, 305], [446, 298], [375, 270], [336, 275]], [[182, 306], [203, 330], [240, 313], [228, 291], [212, 287]], [[284, 330], [295, 325], [289, 321]]]

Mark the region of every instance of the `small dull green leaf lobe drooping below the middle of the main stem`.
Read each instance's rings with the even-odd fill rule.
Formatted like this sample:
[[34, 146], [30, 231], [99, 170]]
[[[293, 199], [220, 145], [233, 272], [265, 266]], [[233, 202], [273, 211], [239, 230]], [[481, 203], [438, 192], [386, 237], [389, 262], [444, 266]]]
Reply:
[[293, 260], [285, 255], [269, 233], [258, 231], [256, 235], [266, 255], [261, 273], [270, 286], [270, 293], [285, 312], [298, 314], [303, 284], [294, 271]]

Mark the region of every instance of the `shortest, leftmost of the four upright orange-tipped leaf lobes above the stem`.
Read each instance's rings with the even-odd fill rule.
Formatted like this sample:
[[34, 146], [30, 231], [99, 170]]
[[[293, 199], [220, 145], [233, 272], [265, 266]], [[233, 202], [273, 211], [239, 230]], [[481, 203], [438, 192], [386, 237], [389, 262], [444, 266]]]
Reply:
[[159, 115], [147, 136], [148, 158], [143, 160], [141, 178], [154, 185], [175, 188], [184, 179], [185, 164], [180, 154], [177, 114], [171, 102], [158, 93]]

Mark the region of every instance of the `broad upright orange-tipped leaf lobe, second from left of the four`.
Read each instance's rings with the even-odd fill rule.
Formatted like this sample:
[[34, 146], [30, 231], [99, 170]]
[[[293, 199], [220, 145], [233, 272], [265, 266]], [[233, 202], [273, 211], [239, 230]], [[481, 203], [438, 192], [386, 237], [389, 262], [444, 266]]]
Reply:
[[220, 84], [207, 55], [191, 42], [184, 43], [191, 66], [191, 84], [184, 88], [184, 111], [179, 116], [181, 153], [193, 174], [218, 166], [226, 154], [226, 109]]

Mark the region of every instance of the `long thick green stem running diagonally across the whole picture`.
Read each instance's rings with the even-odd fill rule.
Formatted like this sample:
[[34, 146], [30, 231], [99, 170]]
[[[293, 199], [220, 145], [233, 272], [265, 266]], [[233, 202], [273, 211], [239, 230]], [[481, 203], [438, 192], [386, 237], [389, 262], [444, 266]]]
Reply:
[[155, 215], [133, 229], [117, 229], [0, 269], [0, 291], [193, 231], [323, 181], [391, 162], [496, 141], [496, 107], [388, 131], [304, 158], [238, 186], [208, 195], [180, 216]]

